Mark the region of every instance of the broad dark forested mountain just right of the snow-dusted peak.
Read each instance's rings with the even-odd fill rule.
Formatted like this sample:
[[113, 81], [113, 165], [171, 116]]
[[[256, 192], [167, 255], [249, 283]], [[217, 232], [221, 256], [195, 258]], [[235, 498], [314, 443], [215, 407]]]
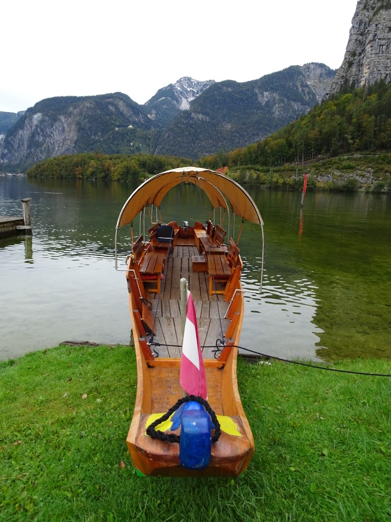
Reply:
[[245, 83], [216, 82], [166, 126], [155, 153], [198, 159], [259, 141], [322, 101], [334, 75], [312, 63]]

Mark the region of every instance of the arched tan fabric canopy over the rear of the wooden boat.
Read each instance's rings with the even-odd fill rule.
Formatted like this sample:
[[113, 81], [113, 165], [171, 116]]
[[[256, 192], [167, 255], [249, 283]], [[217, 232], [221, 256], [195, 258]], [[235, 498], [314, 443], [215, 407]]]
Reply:
[[245, 189], [234, 180], [231, 180], [225, 174], [209, 169], [181, 167], [156, 174], [136, 188], [122, 208], [116, 228], [119, 229], [129, 224], [144, 207], [148, 205], [160, 206], [167, 192], [179, 185], [182, 180], [185, 183], [200, 184], [202, 190], [211, 200], [213, 207], [226, 207], [225, 199], [221, 194], [223, 193], [237, 216], [252, 223], [263, 224], [261, 214], [254, 201]]

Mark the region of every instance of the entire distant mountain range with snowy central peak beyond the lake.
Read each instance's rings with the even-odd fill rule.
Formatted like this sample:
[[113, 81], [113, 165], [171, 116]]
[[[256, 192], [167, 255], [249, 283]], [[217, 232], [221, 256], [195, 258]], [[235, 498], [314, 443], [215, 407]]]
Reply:
[[335, 72], [292, 66], [239, 83], [180, 78], [144, 105], [116, 92], [57, 97], [28, 109], [0, 137], [0, 168], [25, 169], [78, 152], [138, 152], [198, 159], [260, 140], [323, 99]]

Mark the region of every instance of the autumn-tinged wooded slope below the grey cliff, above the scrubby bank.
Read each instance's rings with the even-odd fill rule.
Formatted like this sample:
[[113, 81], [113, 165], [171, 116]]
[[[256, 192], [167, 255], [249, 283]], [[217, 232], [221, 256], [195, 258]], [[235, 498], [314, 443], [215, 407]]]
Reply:
[[391, 86], [384, 81], [341, 92], [272, 136], [224, 155], [203, 158], [209, 167], [284, 165], [320, 155], [391, 150]]

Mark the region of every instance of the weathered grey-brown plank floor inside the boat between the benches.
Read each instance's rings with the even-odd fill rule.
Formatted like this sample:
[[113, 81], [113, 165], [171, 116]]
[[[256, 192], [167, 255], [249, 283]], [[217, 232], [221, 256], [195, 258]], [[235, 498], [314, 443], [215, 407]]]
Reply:
[[[207, 272], [195, 272], [192, 268], [192, 256], [199, 255], [193, 239], [182, 239], [174, 246], [172, 255], [168, 257], [165, 279], [162, 281], [160, 296], [150, 293], [152, 314], [156, 313], [154, 342], [160, 346], [152, 348], [159, 357], [180, 357], [181, 318], [179, 309], [180, 279], [186, 278], [189, 290], [196, 307], [198, 334], [204, 359], [213, 359], [213, 348], [216, 340], [222, 338], [223, 331], [228, 328], [229, 321], [224, 319], [228, 303], [224, 295], [208, 293]], [[220, 324], [221, 323], [221, 324]]]

